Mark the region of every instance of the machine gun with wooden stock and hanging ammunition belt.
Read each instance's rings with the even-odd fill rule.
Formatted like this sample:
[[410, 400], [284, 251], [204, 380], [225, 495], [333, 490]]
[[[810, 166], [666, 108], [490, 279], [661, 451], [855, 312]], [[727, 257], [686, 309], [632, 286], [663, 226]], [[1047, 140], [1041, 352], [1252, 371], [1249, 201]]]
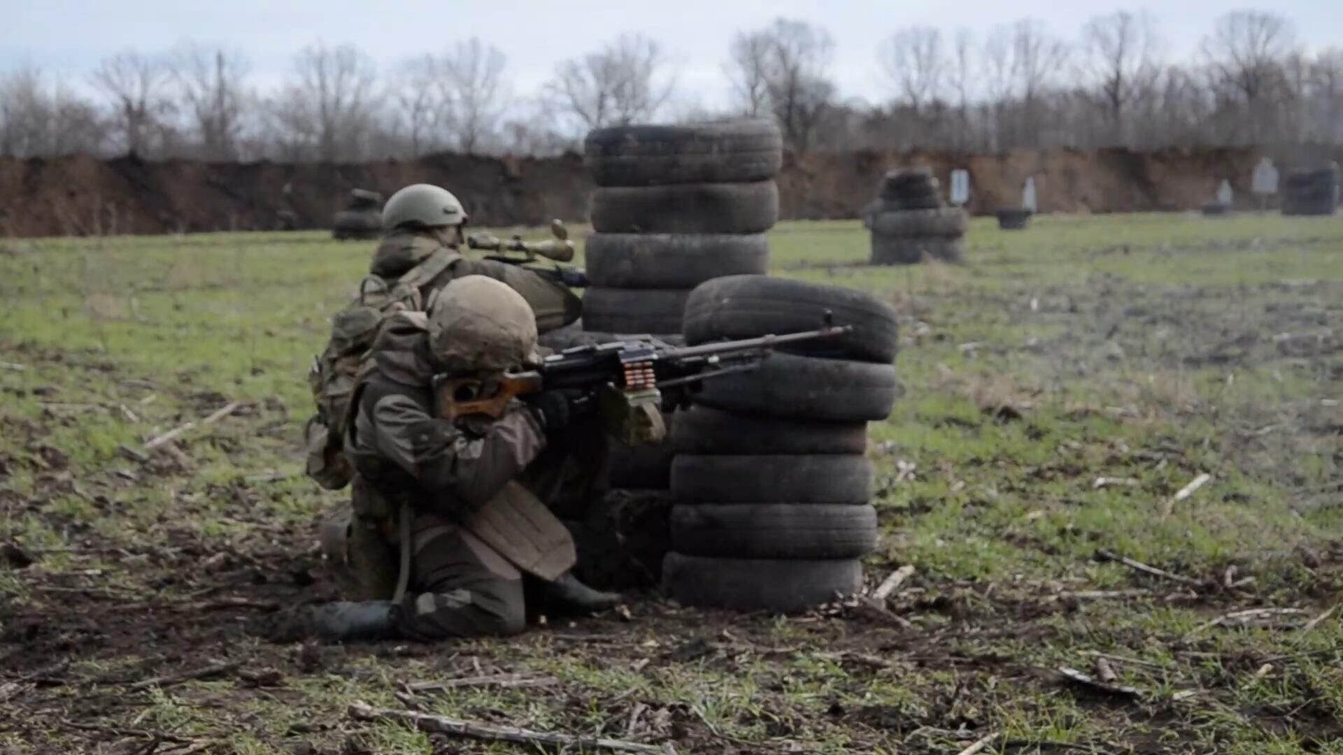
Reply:
[[849, 333], [851, 325], [833, 325], [800, 333], [673, 347], [653, 337], [583, 345], [547, 356], [526, 372], [496, 380], [434, 378], [438, 416], [482, 414], [502, 416], [509, 400], [555, 388], [577, 388], [582, 400], [595, 400], [612, 437], [627, 445], [655, 443], [666, 433], [663, 411], [685, 406], [702, 380], [759, 367], [775, 347]]

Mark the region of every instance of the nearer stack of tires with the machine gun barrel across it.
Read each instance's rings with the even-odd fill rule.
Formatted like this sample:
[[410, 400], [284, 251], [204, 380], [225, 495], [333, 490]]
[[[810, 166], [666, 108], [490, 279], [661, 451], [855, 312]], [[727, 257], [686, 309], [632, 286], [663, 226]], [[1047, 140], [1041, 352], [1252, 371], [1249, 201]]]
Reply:
[[706, 380], [673, 429], [667, 596], [788, 613], [858, 590], [877, 539], [866, 423], [898, 392], [896, 313], [849, 289], [761, 275], [700, 285], [688, 344], [853, 325]]

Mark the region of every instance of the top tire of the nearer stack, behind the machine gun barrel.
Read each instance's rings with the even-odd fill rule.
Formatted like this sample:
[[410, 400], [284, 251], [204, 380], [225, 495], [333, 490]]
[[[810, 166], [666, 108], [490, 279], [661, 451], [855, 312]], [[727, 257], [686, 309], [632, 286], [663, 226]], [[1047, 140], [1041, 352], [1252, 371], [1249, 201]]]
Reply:
[[702, 344], [815, 330], [826, 312], [853, 332], [779, 351], [888, 364], [896, 357], [898, 325], [890, 305], [853, 289], [787, 278], [729, 275], [700, 283], [686, 302], [684, 332], [686, 343]]

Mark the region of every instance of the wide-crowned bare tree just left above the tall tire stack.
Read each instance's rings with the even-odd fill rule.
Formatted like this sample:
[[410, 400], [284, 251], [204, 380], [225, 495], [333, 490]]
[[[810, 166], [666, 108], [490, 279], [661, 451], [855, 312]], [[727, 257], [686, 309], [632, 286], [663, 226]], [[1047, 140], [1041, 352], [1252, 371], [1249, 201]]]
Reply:
[[672, 95], [662, 46], [641, 35], [622, 35], [596, 52], [564, 60], [547, 85], [557, 112], [583, 128], [653, 118]]

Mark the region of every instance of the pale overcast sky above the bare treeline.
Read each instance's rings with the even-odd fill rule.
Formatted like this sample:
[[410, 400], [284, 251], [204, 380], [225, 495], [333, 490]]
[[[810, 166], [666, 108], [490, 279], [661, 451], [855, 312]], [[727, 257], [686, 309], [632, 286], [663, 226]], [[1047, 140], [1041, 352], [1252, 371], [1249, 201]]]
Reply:
[[[1343, 44], [1343, 0], [1276, 0], [1307, 47]], [[1213, 19], [1238, 4], [1174, 0], [1148, 5], [1172, 58], [1193, 55]], [[1261, 7], [1269, 7], [1264, 4]], [[970, 27], [983, 35], [1021, 17], [1044, 20], [1076, 40], [1091, 16], [1115, 0], [0, 0], [0, 70], [32, 64], [71, 83], [86, 81], [98, 59], [134, 48], [165, 51], [185, 40], [244, 52], [255, 83], [285, 75], [291, 55], [314, 42], [355, 43], [381, 67], [418, 52], [479, 36], [508, 56], [518, 95], [533, 94], [556, 60], [580, 55], [622, 32], [659, 40], [676, 62], [682, 101], [725, 103], [721, 73], [732, 35], [786, 16], [826, 27], [837, 52], [833, 75], [846, 97], [882, 101], [889, 90], [876, 50], [894, 30]]]

